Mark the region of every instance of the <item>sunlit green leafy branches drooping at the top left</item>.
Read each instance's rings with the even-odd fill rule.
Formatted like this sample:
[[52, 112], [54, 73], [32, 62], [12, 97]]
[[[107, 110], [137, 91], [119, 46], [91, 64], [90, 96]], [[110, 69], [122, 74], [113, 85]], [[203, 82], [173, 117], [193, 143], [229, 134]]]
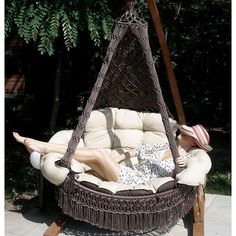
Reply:
[[5, 35], [14, 27], [26, 43], [35, 42], [41, 54], [52, 55], [63, 38], [67, 50], [79, 44], [79, 33], [90, 32], [96, 46], [108, 39], [112, 26], [107, 0], [6, 1]]

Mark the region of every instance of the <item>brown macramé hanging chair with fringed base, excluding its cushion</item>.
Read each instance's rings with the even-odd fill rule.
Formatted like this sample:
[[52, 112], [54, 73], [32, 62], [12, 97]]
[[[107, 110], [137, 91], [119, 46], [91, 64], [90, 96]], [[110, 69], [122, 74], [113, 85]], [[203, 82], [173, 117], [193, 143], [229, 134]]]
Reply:
[[[165, 182], [156, 191], [139, 187], [126, 188], [114, 193], [99, 188], [96, 184], [81, 181], [78, 171], [72, 168], [72, 156], [84, 137], [91, 113], [110, 108], [127, 109], [142, 114], [160, 114], [174, 159], [179, 156], [170, 114], [162, 96], [152, 58], [148, 25], [133, 9], [128, 10], [116, 21], [91, 96], [76, 129], [69, 135], [67, 152], [60, 160], [55, 162], [54, 159], [53, 162], [57, 168], [56, 172], [67, 170], [66, 177], [62, 183], [54, 183], [58, 185], [57, 200], [63, 213], [76, 220], [122, 232], [164, 230], [192, 209], [198, 183], [185, 184], [174, 178]], [[208, 158], [206, 153], [203, 155]], [[42, 173], [50, 179], [51, 172], [45, 169], [47, 159], [50, 158], [43, 159]], [[210, 166], [208, 159], [207, 161], [205, 173], [209, 171]], [[182, 169], [176, 166], [175, 177], [181, 171]]]

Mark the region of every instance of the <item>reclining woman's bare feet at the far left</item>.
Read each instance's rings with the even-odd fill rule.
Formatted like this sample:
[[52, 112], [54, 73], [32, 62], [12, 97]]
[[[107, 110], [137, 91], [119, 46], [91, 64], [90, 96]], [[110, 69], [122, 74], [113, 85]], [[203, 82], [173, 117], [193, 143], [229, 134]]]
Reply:
[[35, 139], [20, 136], [16, 132], [13, 132], [12, 134], [18, 143], [22, 143], [25, 145], [25, 147], [29, 153], [36, 151], [36, 152], [41, 153], [42, 155], [46, 154], [46, 150], [43, 145], [43, 142], [37, 141]]

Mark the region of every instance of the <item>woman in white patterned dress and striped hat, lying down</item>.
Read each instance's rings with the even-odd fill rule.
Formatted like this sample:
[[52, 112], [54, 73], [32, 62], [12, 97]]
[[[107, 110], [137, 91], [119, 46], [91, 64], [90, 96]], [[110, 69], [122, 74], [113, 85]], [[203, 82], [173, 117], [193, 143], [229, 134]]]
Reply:
[[[177, 136], [177, 147], [180, 157], [177, 158], [176, 164], [179, 167], [186, 165], [187, 159], [192, 158], [188, 151], [195, 146], [204, 151], [211, 151], [209, 146], [210, 137], [202, 125], [192, 127], [181, 125], [180, 134]], [[28, 137], [20, 136], [13, 132], [17, 142], [25, 145], [31, 153], [37, 151], [41, 155], [50, 152], [65, 154], [67, 145], [47, 143]], [[119, 165], [120, 162], [137, 156], [141, 163], [134, 168]], [[175, 164], [169, 144], [145, 144], [135, 149], [119, 155], [113, 159], [106, 149], [102, 148], [77, 148], [73, 158], [81, 163], [87, 164], [92, 171], [107, 181], [117, 181], [122, 184], [142, 184], [145, 181], [164, 176], [173, 176]]]

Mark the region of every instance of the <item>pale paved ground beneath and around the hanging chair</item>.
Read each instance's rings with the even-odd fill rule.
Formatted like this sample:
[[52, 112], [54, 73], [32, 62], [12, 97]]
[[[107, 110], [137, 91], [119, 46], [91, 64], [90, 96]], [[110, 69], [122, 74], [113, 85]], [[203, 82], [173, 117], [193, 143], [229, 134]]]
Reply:
[[[9, 207], [8, 207], [9, 208]], [[46, 213], [41, 213], [38, 206], [18, 212], [14, 209], [5, 211], [5, 236], [42, 236], [44, 231], [59, 214], [59, 209], [52, 204]], [[89, 224], [71, 220], [59, 236], [65, 235], [113, 235]], [[122, 234], [121, 234], [122, 235]], [[143, 234], [144, 235], [144, 234]], [[145, 235], [159, 235], [153, 231]], [[187, 236], [188, 230], [180, 221], [166, 236]], [[231, 235], [231, 197], [206, 194], [205, 236]]]

